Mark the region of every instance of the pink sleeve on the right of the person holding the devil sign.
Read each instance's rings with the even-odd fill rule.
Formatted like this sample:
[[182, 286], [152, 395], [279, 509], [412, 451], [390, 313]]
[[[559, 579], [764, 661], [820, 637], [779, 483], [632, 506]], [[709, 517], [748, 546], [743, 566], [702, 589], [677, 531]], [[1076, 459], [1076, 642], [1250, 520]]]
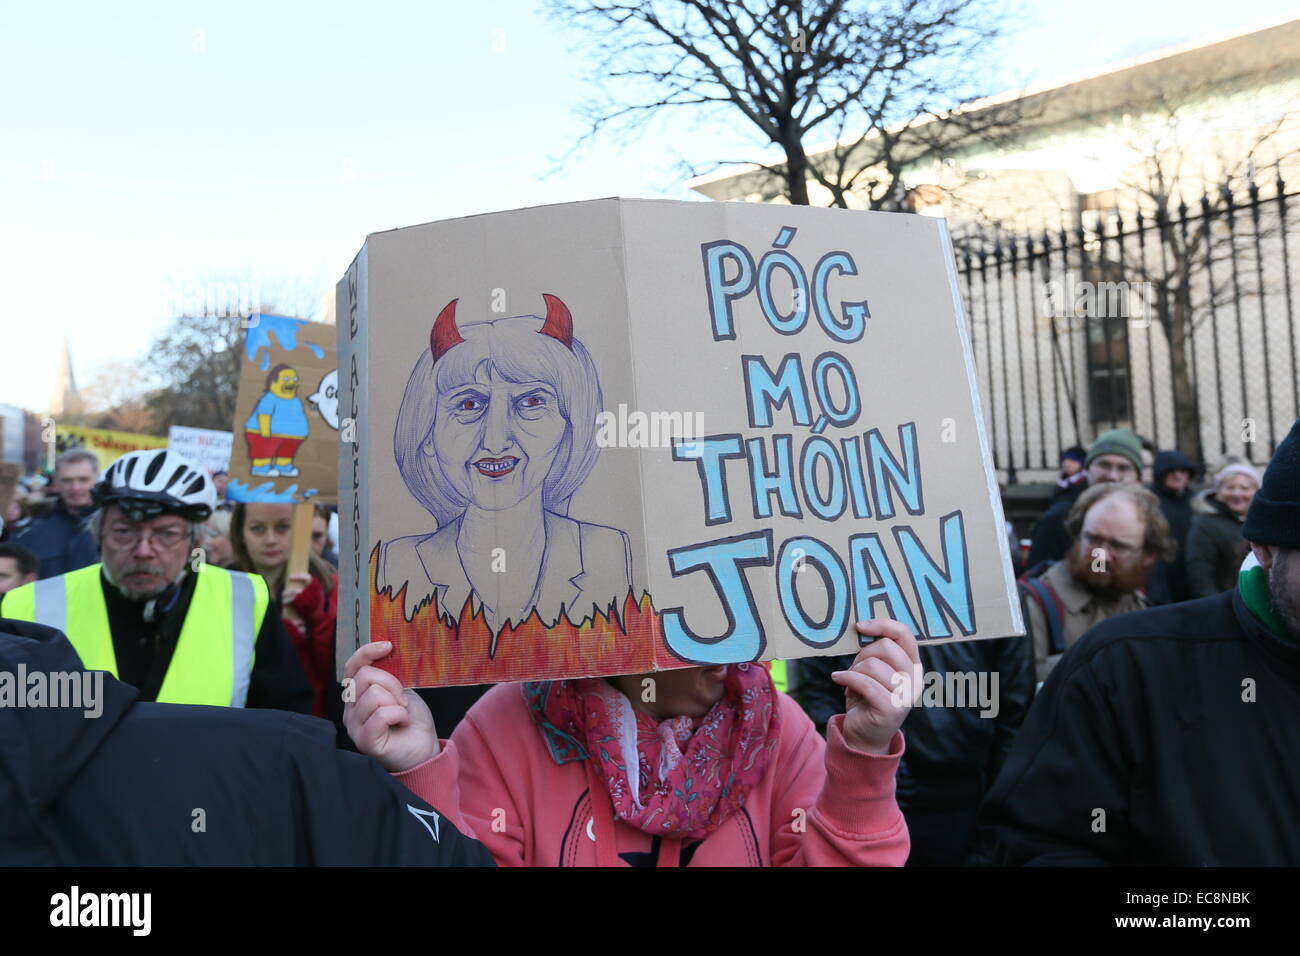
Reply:
[[827, 724], [823, 744], [803, 717], [790, 748], [792, 762], [772, 806], [774, 866], [902, 866], [911, 843], [894, 799], [894, 774], [904, 752], [902, 732], [889, 753], [852, 749], [844, 741], [844, 714]]

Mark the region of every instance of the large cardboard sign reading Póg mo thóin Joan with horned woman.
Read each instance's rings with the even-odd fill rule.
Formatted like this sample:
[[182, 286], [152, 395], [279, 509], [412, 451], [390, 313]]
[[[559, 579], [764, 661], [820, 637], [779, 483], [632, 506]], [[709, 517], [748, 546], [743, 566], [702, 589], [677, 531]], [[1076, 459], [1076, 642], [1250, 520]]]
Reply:
[[339, 662], [408, 685], [1023, 631], [945, 226], [597, 200], [338, 286]]

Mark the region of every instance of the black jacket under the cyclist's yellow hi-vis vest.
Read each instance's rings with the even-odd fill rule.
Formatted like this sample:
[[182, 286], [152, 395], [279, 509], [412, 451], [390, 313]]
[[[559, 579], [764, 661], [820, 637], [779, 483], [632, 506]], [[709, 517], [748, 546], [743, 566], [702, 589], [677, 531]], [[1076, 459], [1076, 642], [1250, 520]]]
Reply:
[[[104, 579], [103, 572], [99, 583], [104, 589], [104, 604], [108, 607], [108, 627], [113, 635], [117, 675], [136, 688], [142, 701], [155, 701], [162, 689], [162, 679], [176, 653], [185, 617], [190, 611], [198, 575], [186, 574], [174, 602], [170, 602], [165, 613], [159, 614], [155, 623], [144, 622], [144, 602], [122, 597]], [[4, 597], [0, 596], [0, 615], [3, 614]], [[75, 627], [77, 622], [70, 619], [68, 624]], [[303, 671], [298, 652], [285, 633], [280, 604], [276, 601], [266, 605], [266, 617], [263, 618], [261, 630], [257, 631], [244, 706], [312, 713], [312, 685], [307, 672]]]

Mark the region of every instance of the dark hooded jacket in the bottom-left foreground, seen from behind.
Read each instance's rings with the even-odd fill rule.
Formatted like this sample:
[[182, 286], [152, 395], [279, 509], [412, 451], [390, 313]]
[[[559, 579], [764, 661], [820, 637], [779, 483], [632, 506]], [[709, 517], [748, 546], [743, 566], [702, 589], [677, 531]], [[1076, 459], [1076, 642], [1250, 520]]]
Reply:
[[[84, 672], [58, 631], [0, 620], [20, 667]], [[324, 721], [143, 704], [108, 674], [82, 705], [0, 706], [0, 865], [493, 865]]]

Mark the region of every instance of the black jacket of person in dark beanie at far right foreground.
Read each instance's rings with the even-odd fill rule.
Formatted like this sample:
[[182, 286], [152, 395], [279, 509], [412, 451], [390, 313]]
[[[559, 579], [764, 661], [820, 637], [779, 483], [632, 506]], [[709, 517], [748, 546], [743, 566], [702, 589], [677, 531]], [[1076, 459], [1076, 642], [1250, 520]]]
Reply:
[[1300, 646], [1231, 591], [1110, 618], [980, 812], [998, 864], [1300, 865]]

